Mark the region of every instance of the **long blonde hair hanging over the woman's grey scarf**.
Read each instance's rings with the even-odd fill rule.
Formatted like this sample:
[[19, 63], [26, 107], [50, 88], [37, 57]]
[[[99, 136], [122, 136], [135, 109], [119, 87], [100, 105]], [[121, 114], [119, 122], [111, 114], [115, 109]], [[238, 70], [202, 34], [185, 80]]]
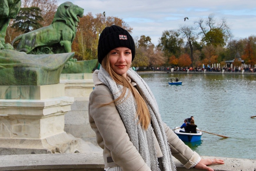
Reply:
[[[135, 98], [135, 101], [137, 103], [137, 116], [139, 117], [139, 123], [141, 124], [142, 128], [146, 130], [150, 123], [150, 114], [149, 114], [149, 110], [147, 108], [146, 102], [144, 101], [142, 96], [139, 94], [139, 92], [128, 81], [127, 78], [125, 78], [122, 75], [118, 75], [116, 72], [114, 72], [114, 70], [112, 70], [112, 68], [110, 67], [109, 61], [110, 61], [110, 53], [108, 53], [106, 57], [103, 58], [101, 65], [109, 73], [110, 77], [112, 77], [112, 79], [117, 84], [120, 84], [123, 86], [123, 89], [122, 89], [122, 94], [117, 99], [115, 99], [114, 101], [108, 104], [111, 104], [113, 102], [116, 104], [123, 103], [125, 101], [124, 96], [128, 88], [130, 92], [132, 92]], [[104, 105], [108, 105], [108, 104], [104, 104]]]

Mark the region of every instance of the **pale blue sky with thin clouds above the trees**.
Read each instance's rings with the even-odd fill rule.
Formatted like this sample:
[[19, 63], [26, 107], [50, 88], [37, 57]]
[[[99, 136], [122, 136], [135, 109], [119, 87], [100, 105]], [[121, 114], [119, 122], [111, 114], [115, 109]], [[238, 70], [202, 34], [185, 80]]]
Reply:
[[[256, 36], [256, 1], [253, 0], [68, 0], [84, 9], [84, 15], [105, 11], [106, 16], [121, 18], [132, 30], [135, 39], [149, 36], [154, 45], [163, 31], [181, 26], [196, 26], [199, 19], [214, 15], [225, 18], [233, 39]], [[66, 2], [59, 0], [58, 5]], [[189, 19], [184, 21], [184, 17]]]

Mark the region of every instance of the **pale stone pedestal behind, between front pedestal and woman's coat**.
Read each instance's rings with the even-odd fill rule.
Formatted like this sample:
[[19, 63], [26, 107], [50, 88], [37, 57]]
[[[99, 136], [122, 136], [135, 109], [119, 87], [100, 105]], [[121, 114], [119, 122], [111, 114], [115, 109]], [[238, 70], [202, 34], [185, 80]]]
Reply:
[[71, 111], [65, 114], [64, 131], [96, 144], [95, 133], [88, 120], [89, 95], [94, 87], [92, 73], [61, 74], [60, 83], [65, 84], [65, 96], [74, 97]]

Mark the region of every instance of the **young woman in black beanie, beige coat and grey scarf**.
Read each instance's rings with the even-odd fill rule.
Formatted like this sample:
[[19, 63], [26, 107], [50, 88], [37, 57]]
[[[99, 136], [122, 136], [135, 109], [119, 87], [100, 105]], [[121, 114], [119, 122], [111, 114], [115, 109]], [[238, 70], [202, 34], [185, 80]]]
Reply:
[[174, 171], [172, 156], [184, 167], [213, 171], [219, 159], [201, 159], [162, 122], [156, 100], [130, 67], [132, 36], [119, 26], [106, 27], [98, 45], [99, 70], [93, 73], [89, 122], [103, 149], [106, 171]]

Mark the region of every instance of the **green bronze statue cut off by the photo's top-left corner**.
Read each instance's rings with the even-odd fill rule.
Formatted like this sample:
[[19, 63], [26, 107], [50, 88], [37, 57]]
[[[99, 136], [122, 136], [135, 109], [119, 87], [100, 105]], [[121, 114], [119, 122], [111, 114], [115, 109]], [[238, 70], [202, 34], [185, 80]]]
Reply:
[[4, 37], [10, 19], [16, 17], [20, 6], [20, 0], [0, 0], [0, 49], [13, 49], [9, 43], [5, 43]]

